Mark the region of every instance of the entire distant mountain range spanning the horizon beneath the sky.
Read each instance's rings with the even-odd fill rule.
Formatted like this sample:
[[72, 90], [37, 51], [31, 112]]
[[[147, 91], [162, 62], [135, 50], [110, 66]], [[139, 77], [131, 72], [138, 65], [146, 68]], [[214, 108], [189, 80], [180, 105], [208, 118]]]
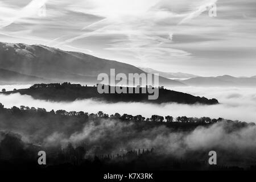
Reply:
[[116, 74], [159, 73], [160, 86], [256, 86], [256, 76], [200, 77], [188, 73], [160, 72], [80, 52], [62, 51], [42, 45], [0, 42], [0, 84], [68, 81], [95, 85], [98, 74], [109, 75], [111, 68], [115, 69]]

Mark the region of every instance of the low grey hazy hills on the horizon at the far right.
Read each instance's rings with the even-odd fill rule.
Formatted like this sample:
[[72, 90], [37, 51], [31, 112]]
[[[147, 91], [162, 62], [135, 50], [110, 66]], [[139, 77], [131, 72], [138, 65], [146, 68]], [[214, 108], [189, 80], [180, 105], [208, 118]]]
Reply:
[[256, 86], [256, 77], [233, 77], [229, 75], [217, 77], [195, 77], [182, 80], [191, 86]]

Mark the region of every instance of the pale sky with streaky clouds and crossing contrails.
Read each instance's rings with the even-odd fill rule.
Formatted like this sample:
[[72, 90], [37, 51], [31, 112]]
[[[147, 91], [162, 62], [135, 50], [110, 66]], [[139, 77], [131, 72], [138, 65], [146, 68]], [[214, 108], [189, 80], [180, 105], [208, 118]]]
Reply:
[[255, 76], [255, 23], [255, 0], [0, 0], [0, 42], [200, 76]]

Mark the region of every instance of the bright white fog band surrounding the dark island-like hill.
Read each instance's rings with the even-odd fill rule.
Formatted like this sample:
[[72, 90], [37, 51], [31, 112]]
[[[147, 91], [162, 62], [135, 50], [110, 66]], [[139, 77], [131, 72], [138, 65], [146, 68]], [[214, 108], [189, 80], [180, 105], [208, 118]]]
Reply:
[[[14, 88], [28, 88], [28, 85], [2, 85], [0, 89], [13, 90]], [[216, 98], [219, 105], [184, 105], [184, 104], [144, 104], [124, 103], [107, 104], [93, 100], [79, 100], [74, 102], [51, 102], [34, 100], [30, 96], [11, 94], [5, 96], [0, 94], [0, 102], [5, 107], [20, 105], [29, 107], [44, 107], [46, 110], [64, 109], [67, 111], [85, 111], [97, 113], [103, 111], [107, 114], [127, 113], [132, 115], [141, 114], [144, 117], [151, 117], [152, 114], [172, 115], [173, 117], [186, 115], [187, 117], [210, 117], [256, 122], [256, 92], [255, 88], [202, 88], [202, 87], [177, 87], [172, 90], [193, 94], [195, 96]]]

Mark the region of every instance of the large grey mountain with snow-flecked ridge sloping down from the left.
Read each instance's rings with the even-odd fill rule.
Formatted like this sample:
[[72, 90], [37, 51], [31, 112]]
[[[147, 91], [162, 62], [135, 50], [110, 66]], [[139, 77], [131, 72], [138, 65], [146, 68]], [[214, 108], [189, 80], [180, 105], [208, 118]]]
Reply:
[[[141, 69], [118, 61], [101, 59], [85, 53], [62, 51], [42, 45], [0, 43], [0, 68], [15, 81], [22, 74], [31, 76], [28, 80], [56, 80], [58, 82], [80, 82], [96, 84], [99, 73], [109, 73], [115, 69], [118, 73], [144, 73]], [[14, 75], [13, 73], [16, 72]], [[0, 81], [5, 81], [0, 80]], [[159, 84], [165, 86], [183, 86], [184, 84], [159, 77]]]

